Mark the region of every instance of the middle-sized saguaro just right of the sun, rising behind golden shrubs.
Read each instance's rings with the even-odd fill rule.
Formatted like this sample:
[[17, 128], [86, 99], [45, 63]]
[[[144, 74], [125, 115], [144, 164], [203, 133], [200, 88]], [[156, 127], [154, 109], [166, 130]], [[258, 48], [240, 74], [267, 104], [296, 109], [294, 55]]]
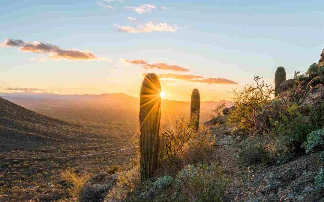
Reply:
[[198, 89], [193, 89], [191, 93], [190, 119], [194, 130], [199, 128], [200, 94]]

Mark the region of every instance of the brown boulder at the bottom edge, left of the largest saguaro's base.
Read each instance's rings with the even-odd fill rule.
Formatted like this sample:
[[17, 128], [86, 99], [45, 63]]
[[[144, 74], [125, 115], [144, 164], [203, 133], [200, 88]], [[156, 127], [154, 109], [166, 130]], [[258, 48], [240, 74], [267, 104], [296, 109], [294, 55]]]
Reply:
[[82, 187], [81, 202], [103, 201], [105, 193], [116, 184], [118, 175], [98, 173], [92, 176]]

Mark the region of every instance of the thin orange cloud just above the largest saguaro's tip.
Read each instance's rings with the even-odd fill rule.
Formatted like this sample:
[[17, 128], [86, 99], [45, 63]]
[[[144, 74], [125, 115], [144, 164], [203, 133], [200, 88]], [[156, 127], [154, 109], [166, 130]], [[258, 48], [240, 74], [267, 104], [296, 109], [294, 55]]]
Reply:
[[145, 69], [163, 69], [163, 70], [173, 70], [173, 71], [190, 71], [189, 69], [180, 67], [178, 65], [168, 65], [166, 63], [153, 63], [153, 64], [148, 64], [144, 60], [141, 59], [135, 59], [135, 60], [128, 60], [128, 59], [123, 59], [123, 62], [126, 63], [131, 63], [135, 65], [142, 65]]

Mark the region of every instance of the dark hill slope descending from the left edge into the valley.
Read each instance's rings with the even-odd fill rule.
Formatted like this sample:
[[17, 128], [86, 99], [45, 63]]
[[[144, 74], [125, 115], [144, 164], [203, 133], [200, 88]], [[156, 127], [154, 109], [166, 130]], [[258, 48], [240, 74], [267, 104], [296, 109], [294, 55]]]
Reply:
[[0, 98], [0, 152], [87, 137], [80, 127]]

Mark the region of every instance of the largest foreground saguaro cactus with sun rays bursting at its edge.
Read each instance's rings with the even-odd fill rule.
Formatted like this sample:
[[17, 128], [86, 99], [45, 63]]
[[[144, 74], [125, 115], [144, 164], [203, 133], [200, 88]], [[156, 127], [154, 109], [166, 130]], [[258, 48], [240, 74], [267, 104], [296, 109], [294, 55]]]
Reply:
[[143, 80], [140, 95], [140, 150], [141, 181], [153, 177], [159, 151], [159, 130], [161, 119], [161, 86], [154, 73]]

